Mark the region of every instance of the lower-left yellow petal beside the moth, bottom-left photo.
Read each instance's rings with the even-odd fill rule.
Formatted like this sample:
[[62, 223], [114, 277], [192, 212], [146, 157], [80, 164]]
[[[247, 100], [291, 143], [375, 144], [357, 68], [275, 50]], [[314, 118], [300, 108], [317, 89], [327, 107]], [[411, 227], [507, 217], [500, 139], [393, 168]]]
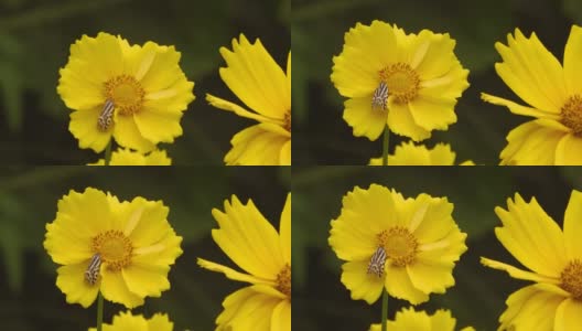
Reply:
[[58, 267], [56, 286], [66, 295], [68, 303], [79, 303], [88, 308], [97, 298], [99, 286], [89, 286], [84, 278], [87, 263]]

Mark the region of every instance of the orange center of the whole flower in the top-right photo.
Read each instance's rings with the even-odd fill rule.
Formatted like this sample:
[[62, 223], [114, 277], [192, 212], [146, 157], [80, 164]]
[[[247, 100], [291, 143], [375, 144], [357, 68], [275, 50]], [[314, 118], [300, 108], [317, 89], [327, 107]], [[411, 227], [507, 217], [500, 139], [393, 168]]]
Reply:
[[406, 63], [395, 63], [382, 68], [380, 81], [386, 83], [388, 95], [395, 96], [399, 104], [406, 104], [417, 97], [420, 89], [420, 77]]

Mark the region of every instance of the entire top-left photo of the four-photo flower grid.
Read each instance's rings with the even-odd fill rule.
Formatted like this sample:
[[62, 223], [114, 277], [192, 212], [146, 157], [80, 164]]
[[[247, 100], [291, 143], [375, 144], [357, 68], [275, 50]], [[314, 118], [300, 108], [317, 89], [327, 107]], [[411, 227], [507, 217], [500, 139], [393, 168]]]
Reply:
[[7, 0], [0, 13], [3, 163], [290, 163], [289, 0]]

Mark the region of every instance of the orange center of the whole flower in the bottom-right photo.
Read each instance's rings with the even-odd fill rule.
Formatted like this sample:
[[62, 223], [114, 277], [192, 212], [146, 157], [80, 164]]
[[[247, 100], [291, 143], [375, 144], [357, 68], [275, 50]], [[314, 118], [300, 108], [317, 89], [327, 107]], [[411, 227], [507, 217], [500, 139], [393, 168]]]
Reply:
[[418, 242], [408, 228], [395, 226], [382, 231], [378, 234], [378, 241], [392, 265], [403, 267], [414, 261]]

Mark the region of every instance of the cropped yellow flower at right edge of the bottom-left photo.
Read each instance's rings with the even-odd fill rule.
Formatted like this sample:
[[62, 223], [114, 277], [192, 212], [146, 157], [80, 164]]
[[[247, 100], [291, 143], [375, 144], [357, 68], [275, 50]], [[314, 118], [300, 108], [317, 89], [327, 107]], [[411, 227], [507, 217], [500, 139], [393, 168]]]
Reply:
[[[226, 297], [216, 330], [291, 330], [291, 194], [281, 213], [279, 233], [252, 201], [244, 205], [233, 195], [225, 211], [213, 210], [219, 228], [212, 235], [223, 252], [241, 269], [198, 258], [202, 267], [250, 282]], [[250, 313], [252, 311], [252, 313]]]

